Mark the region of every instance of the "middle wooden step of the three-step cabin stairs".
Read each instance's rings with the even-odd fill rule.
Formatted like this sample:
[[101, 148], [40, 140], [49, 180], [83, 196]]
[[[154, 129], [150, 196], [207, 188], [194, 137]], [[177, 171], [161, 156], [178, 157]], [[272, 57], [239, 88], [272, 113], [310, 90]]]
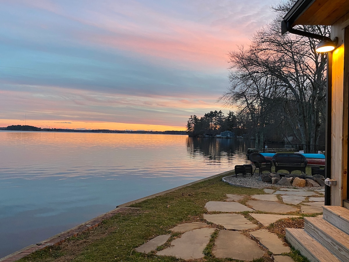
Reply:
[[349, 235], [325, 219], [304, 217], [304, 231], [342, 261], [349, 258]]

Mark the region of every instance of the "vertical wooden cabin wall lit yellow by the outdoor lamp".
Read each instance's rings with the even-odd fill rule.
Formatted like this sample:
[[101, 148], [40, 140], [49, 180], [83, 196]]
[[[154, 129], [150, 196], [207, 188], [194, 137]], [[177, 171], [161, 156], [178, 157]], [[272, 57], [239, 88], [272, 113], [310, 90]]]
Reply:
[[344, 72], [344, 59], [348, 63], [348, 37], [345, 28], [349, 21], [346, 14], [331, 26], [331, 38], [338, 37], [338, 48], [332, 53], [332, 131], [331, 131], [331, 179], [337, 181], [331, 186], [331, 205], [342, 206], [347, 199], [348, 163], [348, 67]]

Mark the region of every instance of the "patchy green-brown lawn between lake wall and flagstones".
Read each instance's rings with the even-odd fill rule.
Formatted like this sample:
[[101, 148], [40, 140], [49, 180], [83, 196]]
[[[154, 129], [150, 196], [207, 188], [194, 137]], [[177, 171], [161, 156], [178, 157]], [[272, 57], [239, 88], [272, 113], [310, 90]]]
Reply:
[[[225, 194], [238, 194], [246, 195], [241, 202], [244, 203], [250, 195], [264, 194], [262, 189], [232, 187], [221, 180], [222, 176], [218, 176], [134, 204], [132, 205], [134, 209], [105, 220], [101, 226], [91, 231], [70, 238], [60, 246], [35, 252], [19, 261], [182, 261], [169, 256], [138, 253], [134, 248], [155, 236], [171, 234], [169, 229], [180, 223], [205, 222], [203, 214], [207, 212], [205, 204], [208, 201], [223, 201]], [[248, 212], [243, 214], [246, 218], [253, 220]], [[286, 219], [273, 223], [268, 230], [284, 237], [285, 227], [302, 226], [303, 219]], [[211, 235], [211, 241], [204, 252], [205, 258], [193, 261], [236, 261], [217, 259], [212, 255], [216, 235], [217, 233]], [[172, 234], [170, 240], [178, 236], [180, 236], [179, 233]], [[158, 249], [163, 249], [166, 245], [168, 243]], [[306, 261], [294, 250], [289, 253], [289, 256], [295, 261]], [[262, 259], [255, 260], [255, 262], [262, 261], [273, 260], [266, 252]]]

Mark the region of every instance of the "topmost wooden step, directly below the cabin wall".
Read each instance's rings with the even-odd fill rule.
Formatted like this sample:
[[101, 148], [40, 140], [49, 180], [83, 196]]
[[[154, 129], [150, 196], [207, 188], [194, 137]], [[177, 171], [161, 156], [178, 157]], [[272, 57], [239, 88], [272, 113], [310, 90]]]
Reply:
[[349, 210], [341, 206], [324, 206], [323, 218], [349, 234]]

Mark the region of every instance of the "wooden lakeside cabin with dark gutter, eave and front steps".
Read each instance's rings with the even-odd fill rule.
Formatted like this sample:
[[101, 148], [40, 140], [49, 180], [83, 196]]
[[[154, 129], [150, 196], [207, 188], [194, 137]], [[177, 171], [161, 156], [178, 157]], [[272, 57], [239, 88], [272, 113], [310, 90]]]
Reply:
[[[331, 39], [296, 25], [331, 26]], [[349, 261], [348, 93], [349, 0], [298, 0], [282, 21], [290, 32], [333, 45], [327, 56], [326, 166], [323, 218], [305, 217], [304, 229], [287, 229], [286, 239], [310, 261]]]

